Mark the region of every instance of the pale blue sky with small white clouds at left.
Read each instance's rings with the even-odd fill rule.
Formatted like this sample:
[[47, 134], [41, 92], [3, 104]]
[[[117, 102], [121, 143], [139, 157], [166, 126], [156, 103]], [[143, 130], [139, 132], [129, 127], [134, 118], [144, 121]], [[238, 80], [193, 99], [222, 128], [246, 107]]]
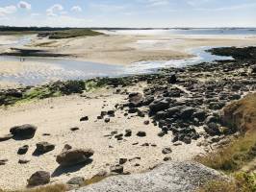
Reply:
[[256, 27], [256, 0], [0, 0], [0, 25]]

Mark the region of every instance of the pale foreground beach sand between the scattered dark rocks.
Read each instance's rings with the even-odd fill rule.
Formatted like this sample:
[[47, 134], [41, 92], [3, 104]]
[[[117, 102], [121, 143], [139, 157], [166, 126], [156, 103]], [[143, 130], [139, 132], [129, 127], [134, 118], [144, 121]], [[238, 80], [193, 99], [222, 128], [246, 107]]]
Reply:
[[[138, 90], [139, 87], [131, 89]], [[124, 171], [141, 172], [163, 161], [165, 155], [162, 154], [162, 149], [164, 147], [172, 148], [173, 152], [168, 156], [173, 159], [191, 159], [192, 156], [203, 151], [196, 146], [195, 141], [191, 145], [172, 146], [171, 134], [162, 138], [158, 137], [159, 128], [152, 124], [148, 126], [143, 124], [146, 117], [128, 118], [124, 117], [121, 111], [117, 111], [115, 118], [111, 118], [111, 122], [108, 124], [103, 120], [96, 120], [96, 116], [100, 114], [104, 104], [106, 105], [104, 110], [114, 109], [115, 104], [123, 102], [126, 96], [113, 94], [112, 90], [101, 90], [91, 93], [90, 97], [91, 99], [79, 96], [46, 99], [19, 107], [0, 109], [0, 135], [8, 133], [9, 129], [15, 125], [29, 123], [38, 126], [38, 132], [31, 140], [9, 140], [0, 143], [0, 158], [9, 159], [6, 165], [1, 166], [0, 188], [22, 188], [31, 174], [38, 170], [51, 172], [53, 181], [66, 181], [75, 176], [89, 179], [101, 170], [109, 171], [109, 164], [117, 163], [120, 157], [140, 156], [141, 160], [127, 162]], [[81, 123], [79, 119], [85, 115], [88, 115], [90, 120]], [[72, 127], [79, 127], [80, 130], [71, 132], [69, 129]], [[113, 131], [121, 133], [126, 129], [131, 129], [133, 135], [123, 141], [104, 136]], [[139, 131], [146, 132], [146, 137], [136, 136]], [[42, 133], [51, 133], [51, 135], [42, 136]], [[32, 156], [36, 149], [35, 145], [39, 141], [56, 144], [56, 148], [43, 156]], [[139, 142], [139, 144], [132, 145], [135, 142]], [[157, 147], [142, 147], [141, 144], [145, 142], [156, 144]], [[29, 152], [25, 156], [18, 156], [16, 154], [18, 148], [25, 144], [30, 146]], [[64, 144], [92, 148], [95, 151], [92, 163], [76, 169], [58, 169], [55, 156], [62, 151]], [[109, 146], [113, 146], [113, 148]], [[31, 161], [21, 165], [17, 163], [19, 158], [27, 158]], [[136, 163], [141, 166], [136, 167]]]

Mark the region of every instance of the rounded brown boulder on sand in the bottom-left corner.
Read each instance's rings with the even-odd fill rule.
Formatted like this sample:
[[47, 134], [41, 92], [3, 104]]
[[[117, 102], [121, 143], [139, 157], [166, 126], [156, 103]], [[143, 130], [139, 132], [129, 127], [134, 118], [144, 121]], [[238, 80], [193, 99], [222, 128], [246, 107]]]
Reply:
[[38, 186], [42, 184], [47, 184], [50, 182], [51, 176], [50, 173], [45, 171], [37, 171], [33, 174], [28, 180], [29, 186]]

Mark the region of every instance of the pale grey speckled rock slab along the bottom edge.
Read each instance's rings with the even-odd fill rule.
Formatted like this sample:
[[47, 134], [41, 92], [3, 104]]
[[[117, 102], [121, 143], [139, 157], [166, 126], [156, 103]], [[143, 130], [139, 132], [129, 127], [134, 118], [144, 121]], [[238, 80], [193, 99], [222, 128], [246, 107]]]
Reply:
[[209, 180], [227, 178], [199, 163], [168, 162], [148, 173], [107, 178], [73, 192], [192, 192]]

